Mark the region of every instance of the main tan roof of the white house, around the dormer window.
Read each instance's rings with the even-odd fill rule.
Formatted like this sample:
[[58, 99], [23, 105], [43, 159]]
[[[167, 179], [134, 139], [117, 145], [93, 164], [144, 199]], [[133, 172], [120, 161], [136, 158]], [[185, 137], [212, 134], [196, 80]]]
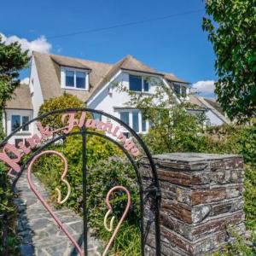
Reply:
[[177, 79], [173, 74], [163, 74], [152, 67], [138, 61], [131, 55], [126, 55], [124, 59], [115, 64], [102, 63], [96, 61], [86, 61], [78, 58], [71, 58], [61, 55], [49, 55], [33, 52], [34, 60], [38, 70], [38, 78], [41, 84], [44, 100], [61, 96], [65, 89], [61, 89], [61, 66], [76, 67], [90, 71], [90, 90], [67, 90], [68, 93], [78, 96], [86, 102], [89, 97], [95, 96], [102, 87], [117, 73], [120, 69], [135, 71], [140, 73], [157, 74], [165, 76], [166, 79], [173, 81]]

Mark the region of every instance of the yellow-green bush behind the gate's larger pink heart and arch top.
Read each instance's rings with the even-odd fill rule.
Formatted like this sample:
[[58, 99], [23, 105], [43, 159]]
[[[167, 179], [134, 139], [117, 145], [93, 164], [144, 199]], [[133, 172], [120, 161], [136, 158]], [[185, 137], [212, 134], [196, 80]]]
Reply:
[[[67, 159], [67, 180], [73, 191], [66, 206], [79, 212], [82, 207], [82, 137], [75, 135], [67, 137], [63, 142], [49, 146], [51, 150], [61, 152]], [[101, 137], [88, 136], [86, 143], [87, 166], [95, 165], [97, 161], [108, 159], [109, 156], [119, 154], [119, 149]], [[60, 187], [62, 194], [66, 195], [67, 187], [61, 184], [63, 164], [55, 155], [44, 155], [34, 167], [37, 176], [52, 191], [52, 200], [55, 201], [55, 188]]]

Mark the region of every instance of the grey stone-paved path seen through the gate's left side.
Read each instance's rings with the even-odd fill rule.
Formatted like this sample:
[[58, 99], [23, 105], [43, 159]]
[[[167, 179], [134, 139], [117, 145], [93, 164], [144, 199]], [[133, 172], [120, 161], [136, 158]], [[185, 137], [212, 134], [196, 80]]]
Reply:
[[[38, 191], [47, 199], [49, 195], [45, 191], [44, 186], [38, 182], [36, 177], [33, 177], [33, 180]], [[67, 239], [67, 236], [59, 230], [54, 220], [44, 209], [44, 206], [38, 201], [36, 195], [29, 189], [26, 173], [20, 177], [16, 187], [20, 194], [20, 197], [15, 199], [15, 203], [19, 208], [18, 234], [22, 239], [21, 255], [78, 255], [71, 242]], [[53, 207], [53, 209], [81, 245], [83, 243], [82, 218], [67, 208], [56, 210]], [[100, 256], [100, 253], [97, 252], [101, 248], [100, 242], [90, 234], [88, 236], [88, 248], [88, 255]]]

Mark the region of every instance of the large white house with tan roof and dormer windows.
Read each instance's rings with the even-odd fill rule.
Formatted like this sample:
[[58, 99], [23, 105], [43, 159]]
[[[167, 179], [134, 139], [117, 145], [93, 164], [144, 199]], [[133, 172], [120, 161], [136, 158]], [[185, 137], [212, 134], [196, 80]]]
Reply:
[[[125, 103], [129, 102], [130, 96], [125, 91], [117, 90], [116, 84], [145, 95], [166, 84], [172, 89], [177, 104], [189, 101], [188, 82], [177, 79], [172, 73], [156, 71], [131, 55], [108, 64], [33, 52], [29, 85], [21, 84], [5, 108], [3, 125], [6, 134], [37, 117], [45, 100], [61, 96], [64, 91], [78, 96], [88, 108], [122, 119], [138, 133], [147, 132], [148, 120], [143, 119], [137, 109], [127, 108]], [[102, 116], [95, 118], [109, 121]], [[12, 137], [10, 143], [20, 143], [35, 132], [35, 125], [28, 125]]]

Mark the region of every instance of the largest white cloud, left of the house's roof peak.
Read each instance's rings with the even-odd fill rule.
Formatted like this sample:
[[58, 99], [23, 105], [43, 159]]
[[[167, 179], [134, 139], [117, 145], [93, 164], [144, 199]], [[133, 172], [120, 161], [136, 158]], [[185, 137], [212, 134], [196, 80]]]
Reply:
[[42, 53], [49, 53], [52, 45], [49, 44], [47, 39], [44, 36], [41, 36], [35, 40], [28, 41], [26, 38], [19, 38], [17, 36], [6, 37], [3, 33], [0, 32], [1, 37], [3, 38], [3, 42], [5, 44], [11, 44], [14, 42], [18, 42], [21, 46], [22, 50], [28, 49], [29, 55], [32, 54], [32, 50], [36, 50]]

